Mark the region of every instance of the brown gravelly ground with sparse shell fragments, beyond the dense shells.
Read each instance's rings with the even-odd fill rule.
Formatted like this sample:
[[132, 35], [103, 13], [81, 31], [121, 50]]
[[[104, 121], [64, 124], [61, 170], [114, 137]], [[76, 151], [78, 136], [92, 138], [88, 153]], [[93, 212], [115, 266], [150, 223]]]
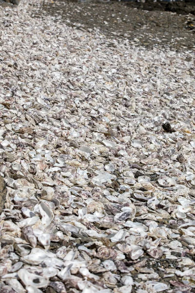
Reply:
[[[177, 13], [164, 11], [167, 6], [174, 8], [178, 5], [182, 11], [181, 9]], [[191, 7], [192, 14], [187, 14], [188, 10], [191, 11]], [[180, 0], [176, 2], [146, 0], [145, 3], [54, 0], [43, 2], [40, 8], [33, 11], [34, 17], [40, 15], [42, 18], [43, 13], [49, 14], [54, 17], [54, 21], [61, 21], [75, 29], [88, 30], [92, 33], [99, 30], [109, 39], [127, 39], [136, 46], [145, 46], [147, 49], [160, 45], [174, 51], [195, 50], [194, 0], [189, 5]], [[144, 10], [147, 8], [150, 11]]]

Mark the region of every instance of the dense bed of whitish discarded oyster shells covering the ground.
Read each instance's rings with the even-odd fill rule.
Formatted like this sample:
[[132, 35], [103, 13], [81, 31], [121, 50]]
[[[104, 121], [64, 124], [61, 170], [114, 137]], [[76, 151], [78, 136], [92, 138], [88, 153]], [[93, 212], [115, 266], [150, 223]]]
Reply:
[[0, 293], [195, 292], [193, 49], [41, 7], [0, 7]]

